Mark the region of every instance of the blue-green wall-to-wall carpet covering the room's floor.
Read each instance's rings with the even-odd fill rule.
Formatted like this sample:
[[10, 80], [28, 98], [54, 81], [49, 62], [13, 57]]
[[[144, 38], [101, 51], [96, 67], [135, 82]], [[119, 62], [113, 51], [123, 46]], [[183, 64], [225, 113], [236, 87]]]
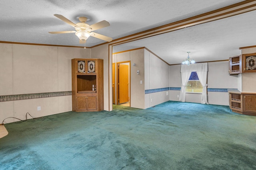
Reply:
[[5, 127], [1, 170], [256, 169], [256, 117], [228, 106], [172, 101], [148, 109], [113, 106]]

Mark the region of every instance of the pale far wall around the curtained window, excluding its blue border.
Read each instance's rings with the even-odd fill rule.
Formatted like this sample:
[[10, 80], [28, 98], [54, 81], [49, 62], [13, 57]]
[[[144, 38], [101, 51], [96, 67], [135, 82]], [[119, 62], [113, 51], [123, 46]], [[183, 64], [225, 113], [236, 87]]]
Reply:
[[[170, 66], [170, 87], [180, 87], [180, 65]], [[208, 88], [238, 88], [237, 75], [228, 74], [228, 61], [208, 63]], [[180, 90], [170, 90], [170, 100], [178, 101]], [[229, 105], [228, 92], [208, 92], [209, 104]], [[186, 102], [201, 103], [201, 94], [186, 94]]]

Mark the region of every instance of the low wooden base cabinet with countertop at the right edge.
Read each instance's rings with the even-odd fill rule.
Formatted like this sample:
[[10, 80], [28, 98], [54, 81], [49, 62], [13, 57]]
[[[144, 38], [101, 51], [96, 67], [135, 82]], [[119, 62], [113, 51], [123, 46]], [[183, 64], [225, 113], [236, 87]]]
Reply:
[[240, 92], [239, 90], [228, 90], [228, 92], [229, 107], [232, 111], [256, 116], [256, 93]]

